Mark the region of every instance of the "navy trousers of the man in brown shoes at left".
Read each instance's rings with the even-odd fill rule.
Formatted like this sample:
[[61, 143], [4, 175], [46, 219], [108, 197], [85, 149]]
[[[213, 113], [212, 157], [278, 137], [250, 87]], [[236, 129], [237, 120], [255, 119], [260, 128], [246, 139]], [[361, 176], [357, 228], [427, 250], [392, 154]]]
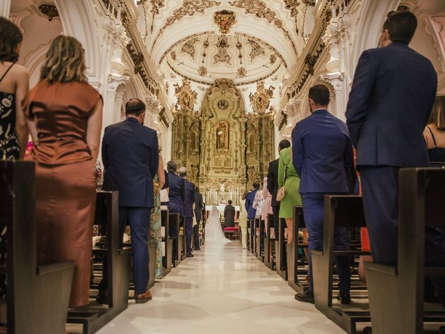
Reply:
[[127, 222], [131, 229], [131, 247], [133, 248], [133, 283], [136, 294], [147, 291], [149, 279], [148, 238], [150, 231], [150, 213], [148, 207], [119, 207], [120, 240], [124, 237]]

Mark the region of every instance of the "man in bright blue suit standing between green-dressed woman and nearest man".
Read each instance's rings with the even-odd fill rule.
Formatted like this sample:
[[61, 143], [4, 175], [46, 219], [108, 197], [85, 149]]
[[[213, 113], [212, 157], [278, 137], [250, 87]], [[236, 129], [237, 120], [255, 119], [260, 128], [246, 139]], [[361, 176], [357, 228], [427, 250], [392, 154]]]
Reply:
[[[329, 90], [323, 85], [309, 89], [312, 115], [297, 123], [292, 132], [293, 166], [300, 176], [305, 224], [309, 233], [309, 289], [296, 294], [296, 299], [314, 303], [312, 250], [323, 250], [325, 194], [345, 194], [347, 175], [353, 166], [353, 145], [346, 124], [327, 111]], [[297, 189], [295, 189], [297, 191]], [[345, 228], [334, 232], [334, 248], [347, 250], [349, 241]], [[350, 303], [349, 257], [337, 257], [339, 296], [341, 303]]]

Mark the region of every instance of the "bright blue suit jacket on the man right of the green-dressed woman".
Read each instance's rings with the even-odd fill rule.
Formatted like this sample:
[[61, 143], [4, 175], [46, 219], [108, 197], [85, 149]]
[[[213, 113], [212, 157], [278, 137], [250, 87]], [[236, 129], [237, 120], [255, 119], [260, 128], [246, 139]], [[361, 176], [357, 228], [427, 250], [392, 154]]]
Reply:
[[316, 110], [292, 132], [292, 162], [300, 193], [348, 193], [353, 145], [348, 128], [327, 110]]

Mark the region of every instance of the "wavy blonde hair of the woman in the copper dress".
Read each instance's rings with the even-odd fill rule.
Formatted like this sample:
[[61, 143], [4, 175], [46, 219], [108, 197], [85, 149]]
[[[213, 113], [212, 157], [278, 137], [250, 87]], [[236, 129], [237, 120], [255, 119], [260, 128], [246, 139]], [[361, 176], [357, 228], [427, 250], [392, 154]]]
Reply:
[[81, 42], [71, 36], [57, 36], [49, 47], [40, 71], [40, 80], [86, 82], [86, 65]]

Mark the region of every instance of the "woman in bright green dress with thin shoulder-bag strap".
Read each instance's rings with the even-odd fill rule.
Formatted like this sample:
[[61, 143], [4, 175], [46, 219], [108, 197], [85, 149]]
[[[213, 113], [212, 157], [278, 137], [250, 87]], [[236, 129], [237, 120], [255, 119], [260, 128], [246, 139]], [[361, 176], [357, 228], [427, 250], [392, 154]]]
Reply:
[[301, 196], [298, 192], [300, 187], [300, 177], [298, 177], [292, 164], [292, 148], [284, 148], [280, 151], [278, 161], [278, 187], [286, 189], [286, 195], [280, 202], [280, 218], [286, 220], [287, 243], [292, 244], [293, 230], [293, 207], [302, 205]]

